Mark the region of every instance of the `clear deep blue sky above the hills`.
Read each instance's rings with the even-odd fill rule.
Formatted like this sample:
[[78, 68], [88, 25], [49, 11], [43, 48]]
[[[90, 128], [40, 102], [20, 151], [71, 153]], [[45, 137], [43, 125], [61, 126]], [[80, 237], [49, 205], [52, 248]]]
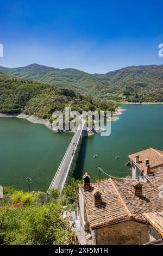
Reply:
[[0, 66], [105, 73], [163, 64], [162, 1], [1, 1]]

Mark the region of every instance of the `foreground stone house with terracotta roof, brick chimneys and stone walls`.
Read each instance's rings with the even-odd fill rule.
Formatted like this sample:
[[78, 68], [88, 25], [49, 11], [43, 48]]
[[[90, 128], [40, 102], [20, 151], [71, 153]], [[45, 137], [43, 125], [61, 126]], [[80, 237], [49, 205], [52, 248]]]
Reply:
[[107, 179], [90, 183], [91, 178], [85, 173], [83, 184], [79, 184], [77, 212], [80, 225], [90, 235], [92, 244], [142, 245], [149, 242], [143, 213], [163, 211], [160, 163], [155, 164], [148, 182], [127, 177], [122, 181]]

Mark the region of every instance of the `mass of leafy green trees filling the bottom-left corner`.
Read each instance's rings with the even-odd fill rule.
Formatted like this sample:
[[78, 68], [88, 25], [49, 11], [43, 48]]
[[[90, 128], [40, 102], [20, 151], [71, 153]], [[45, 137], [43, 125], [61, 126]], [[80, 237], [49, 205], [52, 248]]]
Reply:
[[73, 235], [53, 203], [22, 209], [0, 209], [0, 243], [8, 245], [68, 245]]

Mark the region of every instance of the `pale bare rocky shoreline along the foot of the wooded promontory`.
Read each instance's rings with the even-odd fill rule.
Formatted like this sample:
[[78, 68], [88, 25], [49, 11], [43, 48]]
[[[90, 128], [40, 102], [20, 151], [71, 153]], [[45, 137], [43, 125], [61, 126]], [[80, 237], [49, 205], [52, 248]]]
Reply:
[[[123, 108], [117, 108], [117, 110], [113, 113], [112, 117], [111, 117], [111, 121], [116, 121], [119, 119], [119, 117], [117, 117], [117, 115], [120, 115], [122, 114], [123, 111], [125, 111], [126, 109], [123, 109]], [[21, 114], [4, 114], [4, 113], [0, 113], [0, 118], [1, 117], [16, 117], [16, 118], [22, 118], [22, 119], [26, 119], [34, 124], [43, 124], [43, 125], [46, 125], [49, 129], [51, 129], [52, 131], [54, 132], [62, 132], [62, 131], [55, 131], [53, 129], [53, 126], [52, 126], [52, 123], [49, 122], [48, 119], [42, 119], [42, 118], [39, 118], [39, 117], [36, 117], [35, 115], [27, 115], [27, 114], [24, 114], [24, 113], [21, 113]], [[87, 129], [87, 135], [88, 136], [91, 136], [91, 135], [94, 135], [96, 133], [99, 133], [101, 131], [104, 131], [105, 129], [103, 129], [102, 127], [99, 128], [99, 130], [89, 130]], [[73, 131], [72, 131], [73, 132]]]

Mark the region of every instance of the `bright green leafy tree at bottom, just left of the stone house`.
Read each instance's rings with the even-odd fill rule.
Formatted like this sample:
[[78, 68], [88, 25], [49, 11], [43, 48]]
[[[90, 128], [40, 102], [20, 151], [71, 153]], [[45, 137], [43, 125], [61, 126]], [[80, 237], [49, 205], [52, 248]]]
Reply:
[[72, 232], [60, 218], [61, 208], [53, 203], [30, 209], [28, 240], [32, 245], [60, 245], [70, 243]]

